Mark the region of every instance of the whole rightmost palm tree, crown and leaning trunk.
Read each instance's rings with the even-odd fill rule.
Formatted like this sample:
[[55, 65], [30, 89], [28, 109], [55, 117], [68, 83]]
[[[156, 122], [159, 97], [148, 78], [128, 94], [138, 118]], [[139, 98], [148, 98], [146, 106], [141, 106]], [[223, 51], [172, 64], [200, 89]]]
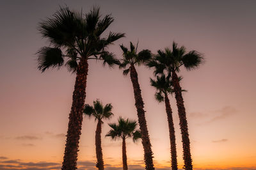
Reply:
[[180, 130], [182, 134], [184, 168], [193, 169], [188, 134], [188, 121], [181, 93], [182, 89], [180, 87], [177, 73], [180, 72], [181, 66], [184, 66], [186, 70], [198, 68], [202, 63], [204, 63], [204, 58], [196, 50], [186, 52], [186, 48], [184, 46], [179, 48], [175, 42], [173, 42], [172, 49], [166, 48], [164, 51], [158, 50], [157, 53], [157, 56], [152, 59], [152, 61], [148, 62], [147, 65], [155, 68], [154, 73], [156, 75], [158, 73], [163, 74], [164, 72], [167, 72], [168, 77], [172, 77], [173, 91], [177, 102]]

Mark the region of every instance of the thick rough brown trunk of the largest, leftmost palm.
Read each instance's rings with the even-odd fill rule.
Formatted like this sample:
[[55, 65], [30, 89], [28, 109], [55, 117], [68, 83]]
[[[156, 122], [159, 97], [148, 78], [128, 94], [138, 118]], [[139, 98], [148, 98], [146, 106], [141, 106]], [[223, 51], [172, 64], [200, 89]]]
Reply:
[[77, 169], [77, 152], [83, 121], [83, 107], [86, 97], [86, 79], [88, 73], [87, 59], [82, 58], [77, 67], [76, 83], [73, 92], [72, 107], [69, 114], [66, 147], [61, 169]]

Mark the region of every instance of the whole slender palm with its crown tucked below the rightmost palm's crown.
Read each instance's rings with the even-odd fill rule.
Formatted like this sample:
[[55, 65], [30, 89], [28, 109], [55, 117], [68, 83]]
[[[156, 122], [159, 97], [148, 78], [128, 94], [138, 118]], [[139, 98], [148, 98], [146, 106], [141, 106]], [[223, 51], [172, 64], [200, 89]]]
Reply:
[[157, 76], [157, 80], [154, 81], [150, 79], [150, 84], [156, 88], [155, 98], [158, 102], [165, 103], [165, 109], [167, 114], [168, 126], [169, 126], [169, 135], [171, 143], [171, 155], [172, 155], [172, 169], [177, 170], [177, 150], [176, 150], [176, 141], [175, 141], [175, 130], [173, 126], [172, 118], [172, 108], [170, 105], [170, 100], [168, 94], [173, 93], [172, 82], [169, 79], [166, 79], [165, 75], [161, 77]]

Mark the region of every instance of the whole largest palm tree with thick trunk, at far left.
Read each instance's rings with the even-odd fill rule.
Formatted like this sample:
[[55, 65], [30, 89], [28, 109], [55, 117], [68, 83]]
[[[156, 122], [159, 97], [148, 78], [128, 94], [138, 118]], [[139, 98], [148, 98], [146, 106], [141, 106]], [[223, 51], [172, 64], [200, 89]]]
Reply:
[[44, 72], [48, 68], [60, 68], [65, 65], [68, 71], [76, 73], [62, 169], [76, 169], [77, 167], [88, 60], [100, 59], [109, 66], [119, 62], [111, 52], [105, 49], [115, 40], [124, 37], [124, 34], [109, 32], [106, 38], [102, 38], [102, 33], [113, 20], [111, 15], [100, 19], [98, 7], [85, 15], [72, 12], [66, 7], [60, 8], [51, 18], [39, 23], [40, 33], [43, 38], [49, 40], [51, 46], [42, 47], [36, 53], [38, 70]]

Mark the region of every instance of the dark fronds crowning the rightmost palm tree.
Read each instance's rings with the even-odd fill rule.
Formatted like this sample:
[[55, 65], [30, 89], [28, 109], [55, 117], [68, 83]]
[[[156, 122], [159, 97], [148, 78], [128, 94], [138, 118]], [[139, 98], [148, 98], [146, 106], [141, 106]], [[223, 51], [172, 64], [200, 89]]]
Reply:
[[202, 54], [196, 50], [186, 52], [184, 46], [177, 47], [177, 43], [173, 42], [172, 50], [169, 48], [164, 51], [158, 50], [155, 58], [148, 62], [147, 66], [154, 67], [154, 73], [157, 75], [158, 73], [163, 73], [164, 70], [168, 73], [179, 72], [180, 66], [184, 66], [187, 70], [193, 70], [202, 65], [202, 63], [204, 63]]

